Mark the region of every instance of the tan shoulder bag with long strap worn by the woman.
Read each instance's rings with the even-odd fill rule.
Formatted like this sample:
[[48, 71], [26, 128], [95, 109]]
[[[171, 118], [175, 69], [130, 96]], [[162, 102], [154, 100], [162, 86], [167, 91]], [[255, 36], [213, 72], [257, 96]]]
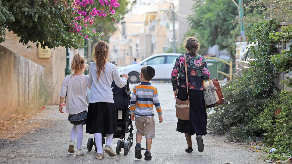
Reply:
[[[185, 55], [184, 55], [185, 57]], [[187, 60], [185, 57], [185, 77], [187, 78]], [[178, 84], [176, 85], [176, 90], [178, 90]], [[176, 118], [180, 120], [190, 120], [190, 98], [189, 98], [189, 84], [187, 81], [187, 100], [179, 100], [176, 94], [175, 97], [175, 113]]]

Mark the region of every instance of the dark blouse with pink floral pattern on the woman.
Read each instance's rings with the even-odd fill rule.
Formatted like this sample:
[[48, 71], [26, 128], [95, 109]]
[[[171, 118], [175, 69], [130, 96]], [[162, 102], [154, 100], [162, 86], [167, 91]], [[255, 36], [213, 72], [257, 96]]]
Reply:
[[[210, 78], [210, 72], [205, 58], [199, 54], [191, 56], [187, 53], [185, 55], [187, 58], [187, 79], [189, 89], [203, 90], [203, 80], [208, 80]], [[179, 86], [187, 88], [184, 55], [179, 55], [175, 60], [171, 72], [171, 83], [173, 90], [176, 89], [177, 83]]]

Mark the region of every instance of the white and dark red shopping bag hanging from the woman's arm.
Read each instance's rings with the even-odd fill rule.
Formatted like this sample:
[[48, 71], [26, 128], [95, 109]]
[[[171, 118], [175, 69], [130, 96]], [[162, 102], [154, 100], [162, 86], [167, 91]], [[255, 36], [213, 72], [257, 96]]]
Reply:
[[217, 78], [209, 81], [203, 81], [204, 99], [206, 108], [215, 107], [226, 103], [220, 84]]

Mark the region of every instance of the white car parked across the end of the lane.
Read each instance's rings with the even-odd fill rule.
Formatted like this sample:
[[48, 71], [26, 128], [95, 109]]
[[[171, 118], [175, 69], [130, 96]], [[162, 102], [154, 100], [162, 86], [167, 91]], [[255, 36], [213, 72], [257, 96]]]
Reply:
[[179, 55], [179, 53], [161, 53], [152, 55], [142, 60], [138, 64], [132, 64], [123, 67], [119, 73], [128, 74], [130, 83], [139, 83], [139, 74], [141, 72], [141, 68], [144, 66], [151, 66], [155, 69], [155, 76], [153, 80], [170, 80], [175, 59]]

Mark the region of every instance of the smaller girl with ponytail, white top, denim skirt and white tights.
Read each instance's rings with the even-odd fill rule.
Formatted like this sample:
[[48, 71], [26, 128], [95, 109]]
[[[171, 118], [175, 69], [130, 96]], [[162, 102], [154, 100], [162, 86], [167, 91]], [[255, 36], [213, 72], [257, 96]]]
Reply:
[[71, 74], [65, 77], [60, 93], [59, 111], [64, 113], [62, 111], [62, 105], [67, 91], [66, 112], [69, 114], [68, 121], [73, 124], [68, 151], [70, 153], [75, 152], [74, 145], [77, 135], [76, 156], [84, 155], [84, 152], [81, 150], [81, 144], [83, 139], [83, 125], [86, 124], [86, 109], [88, 108], [88, 104], [86, 104], [86, 89], [87, 87], [91, 88], [89, 76], [82, 74], [85, 71], [84, 66], [84, 58], [79, 53], [74, 55], [71, 62]]

